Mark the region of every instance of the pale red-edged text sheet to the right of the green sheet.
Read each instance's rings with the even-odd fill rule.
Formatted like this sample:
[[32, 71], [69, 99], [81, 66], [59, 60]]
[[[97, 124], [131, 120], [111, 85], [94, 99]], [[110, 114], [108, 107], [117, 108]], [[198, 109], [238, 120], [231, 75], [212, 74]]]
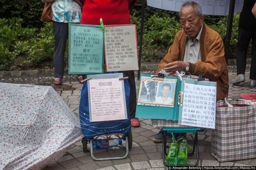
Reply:
[[104, 36], [107, 72], [139, 69], [135, 25], [105, 26]]

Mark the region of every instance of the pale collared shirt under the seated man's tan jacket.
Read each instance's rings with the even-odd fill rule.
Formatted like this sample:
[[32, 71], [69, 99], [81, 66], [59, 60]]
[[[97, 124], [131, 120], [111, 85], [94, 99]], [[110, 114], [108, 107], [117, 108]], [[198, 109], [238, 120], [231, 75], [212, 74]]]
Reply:
[[186, 41], [185, 56], [183, 59], [184, 62], [191, 62], [194, 64], [198, 61], [201, 61], [200, 38], [202, 34], [202, 28], [203, 26], [201, 27], [194, 41], [192, 41], [192, 38], [187, 37], [188, 39]]

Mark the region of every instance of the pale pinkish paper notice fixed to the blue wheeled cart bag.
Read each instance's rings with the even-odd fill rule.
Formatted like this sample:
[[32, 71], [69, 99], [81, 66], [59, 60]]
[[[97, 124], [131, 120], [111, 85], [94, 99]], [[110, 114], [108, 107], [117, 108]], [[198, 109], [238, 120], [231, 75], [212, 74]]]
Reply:
[[127, 119], [122, 81], [119, 78], [90, 80], [90, 121]]

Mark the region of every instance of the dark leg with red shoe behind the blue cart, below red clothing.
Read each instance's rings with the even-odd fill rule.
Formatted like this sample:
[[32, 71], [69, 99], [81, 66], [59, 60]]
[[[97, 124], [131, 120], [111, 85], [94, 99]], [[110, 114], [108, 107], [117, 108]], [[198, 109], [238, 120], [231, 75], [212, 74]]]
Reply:
[[139, 127], [140, 121], [135, 118], [136, 105], [137, 105], [137, 95], [136, 95], [136, 85], [134, 80], [134, 71], [124, 71], [124, 74], [129, 77], [128, 82], [130, 85], [130, 116], [131, 116], [131, 126]]

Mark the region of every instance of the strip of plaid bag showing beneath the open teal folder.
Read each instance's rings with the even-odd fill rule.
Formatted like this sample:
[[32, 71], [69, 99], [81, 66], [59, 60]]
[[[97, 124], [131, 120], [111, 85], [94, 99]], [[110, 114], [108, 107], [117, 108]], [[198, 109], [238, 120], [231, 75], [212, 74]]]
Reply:
[[179, 125], [178, 121], [171, 121], [165, 119], [151, 119], [152, 125], [155, 128], [188, 128], [191, 126]]

